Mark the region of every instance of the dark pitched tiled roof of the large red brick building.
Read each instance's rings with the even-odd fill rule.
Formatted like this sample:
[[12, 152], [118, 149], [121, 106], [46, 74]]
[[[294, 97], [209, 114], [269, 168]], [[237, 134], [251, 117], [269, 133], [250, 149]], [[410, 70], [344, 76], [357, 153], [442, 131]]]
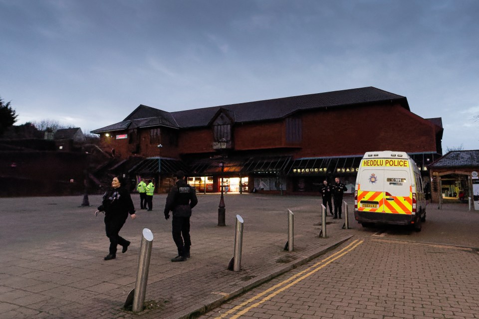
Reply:
[[[220, 109], [228, 112], [229, 117], [238, 122], [255, 122], [281, 119], [298, 111], [333, 108], [350, 105], [359, 105], [364, 103], [377, 103], [384, 101], [399, 102], [406, 110], [410, 111], [406, 97], [394, 93], [386, 92], [375, 87], [365, 87], [358, 89], [316, 93], [300, 95], [279, 99], [264, 101], [246, 102], [239, 104], [230, 104], [215, 106], [202, 109], [193, 109], [177, 112], [165, 112], [149, 106], [140, 105], [123, 122], [113, 124], [91, 133], [101, 133], [107, 131], [125, 129], [123, 126], [126, 121], [136, 122], [139, 120], [156, 118], [158, 124], [172, 128], [193, 128], [205, 127], [211, 123], [212, 119]], [[140, 122], [136, 122], [137, 127], [145, 127]], [[153, 122], [151, 123], [153, 126]], [[132, 125], [134, 127], [134, 125]]]

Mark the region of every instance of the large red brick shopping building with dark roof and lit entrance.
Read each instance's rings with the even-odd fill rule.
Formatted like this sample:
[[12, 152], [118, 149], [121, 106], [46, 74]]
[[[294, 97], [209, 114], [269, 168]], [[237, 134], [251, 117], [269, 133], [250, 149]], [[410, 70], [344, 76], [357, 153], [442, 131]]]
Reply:
[[91, 133], [121, 160], [144, 158], [123, 173], [160, 180], [160, 191], [182, 168], [202, 192], [219, 191], [224, 176], [229, 191], [308, 193], [336, 175], [352, 191], [367, 151], [405, 151], [427, 169], [442, 154], [443, 128], [406, 97], [366, 87], [178, 112], [140, 105]]

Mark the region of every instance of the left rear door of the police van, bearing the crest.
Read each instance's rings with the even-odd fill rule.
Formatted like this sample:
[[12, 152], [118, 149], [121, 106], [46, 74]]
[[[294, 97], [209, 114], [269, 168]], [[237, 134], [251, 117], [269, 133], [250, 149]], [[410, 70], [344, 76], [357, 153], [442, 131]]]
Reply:
[[358, 210], [384, 212], [384, 167], [362, 169], [358, 185]]

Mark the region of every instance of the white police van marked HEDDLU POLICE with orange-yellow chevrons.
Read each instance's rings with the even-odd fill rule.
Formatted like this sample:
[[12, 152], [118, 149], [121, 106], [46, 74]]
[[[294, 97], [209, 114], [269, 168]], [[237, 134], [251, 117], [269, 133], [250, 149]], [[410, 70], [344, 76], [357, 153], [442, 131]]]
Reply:
[[358, 168], [354, 218], [374, 223], [410, 225], [421, 231], [426, 199], [421, 172], [406, 152], [368, 152]]

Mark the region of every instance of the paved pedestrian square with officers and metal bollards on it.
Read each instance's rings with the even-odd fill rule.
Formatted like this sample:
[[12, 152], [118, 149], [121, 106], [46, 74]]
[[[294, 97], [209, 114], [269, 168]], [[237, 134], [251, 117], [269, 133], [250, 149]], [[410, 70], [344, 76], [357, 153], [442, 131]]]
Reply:
[[[188, 318], [219, 306], [351, 238], [328, 217], [328, 238], [318, 238], [320, 199], [310, 196], [228, 194], [227, 226], [218, 227], [218, 195], [200, 194], [191, 218], [192, 257], [171, 263], [176, 246], [171, 219], [163, 217], [166, 195], [155, 195], [153, 211], [138, 211], [120, 234], [128, 252], [104, 261], [108, 239], [102, 216], [79, 207], [82, 196], [1, 198], [0, 318]], [[135, 205], [139, 198], [133, 195]], [[351, 198], [349, 198], [351, 201]], [[287, 240], [287, 209], [294, 214], [295, 251]], [[244, 219], [241, 271], [227, 270], [233, 256], [235, 215]], [[352, 216], [352, 213], [351, 213]], [[122, 309], [135, 286], [141, 233], [153, 232], [146, 292], [147, 309]]]

